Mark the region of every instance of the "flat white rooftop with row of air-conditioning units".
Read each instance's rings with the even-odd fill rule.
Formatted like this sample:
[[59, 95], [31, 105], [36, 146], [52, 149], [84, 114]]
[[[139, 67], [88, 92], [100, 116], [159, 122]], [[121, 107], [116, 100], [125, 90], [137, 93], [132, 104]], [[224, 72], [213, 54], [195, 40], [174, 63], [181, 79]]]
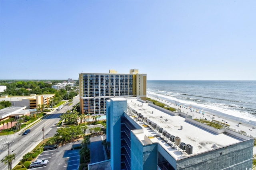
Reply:
[[[170, 133], [170, 135], [179, 137], [180, 142], [191, 145], [193, 151], [190, 155], [207, 152], [248, 139], [246, 137], [242, 139], [240, 134], [236, 136], [234, 133], [232, 135], [228, 133], [213, 133], [212, 131], [186, 121], [185, 117], [169, 115], [134, 98], [127, 99], [127, 103], [131, 109], [141, 113], [144, 117], [150, 119], [150, 121], [157, 123], [157, 125], [162, 127], [167, 133]], [[147, 145], [149, 142], [158, 143], [176, 160], [190, 156], [186, 152], [183, 152], [178, 146], [172, 144], [170, 140], [166, 142], [166, 138], [163, 136], [161, 138], [161, 135], [159, 137], [159, 133], [156, 130], [145, 127], [146, 123], [144, 121], [139, 121], [132, 115], [130, 115], [130, 117], [143, 129], [143, 131], [139, 129], [133, 130], [133, 133], [142, 145]], [[145, 136], [149, 138], [145, 138]]]

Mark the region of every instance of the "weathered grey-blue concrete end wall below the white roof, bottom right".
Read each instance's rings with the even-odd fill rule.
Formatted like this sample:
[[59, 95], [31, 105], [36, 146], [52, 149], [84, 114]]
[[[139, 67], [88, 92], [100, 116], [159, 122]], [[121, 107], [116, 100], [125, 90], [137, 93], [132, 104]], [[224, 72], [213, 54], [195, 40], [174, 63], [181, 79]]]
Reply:
[[177, 161], [176, 170], [243, 170], [252, 168], [253, 139], [188, 156]]

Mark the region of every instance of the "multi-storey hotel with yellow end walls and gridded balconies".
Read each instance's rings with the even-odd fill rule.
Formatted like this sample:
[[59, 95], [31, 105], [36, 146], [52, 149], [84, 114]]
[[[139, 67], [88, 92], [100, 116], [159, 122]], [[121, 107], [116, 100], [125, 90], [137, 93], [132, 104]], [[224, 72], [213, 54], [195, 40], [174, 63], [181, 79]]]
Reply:
[[80, 73], [80, 113], [105, 114], [106, 100], [116, 97], [139, 97], [146, 100], [147, 74], [131, 69], [130, 74]]

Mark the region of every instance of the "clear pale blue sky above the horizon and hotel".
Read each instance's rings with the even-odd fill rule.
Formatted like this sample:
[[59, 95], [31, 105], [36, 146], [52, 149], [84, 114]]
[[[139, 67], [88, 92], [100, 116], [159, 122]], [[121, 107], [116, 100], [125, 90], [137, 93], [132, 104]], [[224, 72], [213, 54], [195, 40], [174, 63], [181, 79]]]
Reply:
[[1, 0], [0, 79], [256, 80], [255, 0]]

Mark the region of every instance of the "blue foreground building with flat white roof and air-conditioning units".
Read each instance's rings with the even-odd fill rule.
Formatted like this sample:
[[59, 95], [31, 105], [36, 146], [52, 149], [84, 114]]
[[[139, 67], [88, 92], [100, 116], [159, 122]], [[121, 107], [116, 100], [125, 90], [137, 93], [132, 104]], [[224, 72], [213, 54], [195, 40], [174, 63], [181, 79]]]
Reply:
[[110, 161], [105, 169], [252, 169], [254, 139], [232, 129], [215, 129], [136, 98], [110, 98], [106, 117]]

